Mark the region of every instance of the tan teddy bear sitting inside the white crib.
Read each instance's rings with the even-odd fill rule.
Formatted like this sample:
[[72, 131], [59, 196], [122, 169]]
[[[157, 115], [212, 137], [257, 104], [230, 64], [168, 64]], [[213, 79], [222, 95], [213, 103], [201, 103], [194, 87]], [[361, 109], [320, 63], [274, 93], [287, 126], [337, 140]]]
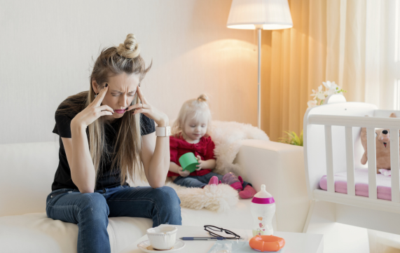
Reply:
[[[396, 115], [392, 113], [390, 114], [389, 117], [396, 118]], [[397, 133], [397, 135], [399, 135], [399, 133]], [[361, 164], [366, 164], [368, 160], [367, 146], [366, 146], [366, 128], [361, 128], [361, 144], [364, 147], [364, 154], [361, 157]], [[375, 129], [375, 146], [376, 146], [376, 173], [380, 174], [381, 169], [390, 170], [389, 129]]]

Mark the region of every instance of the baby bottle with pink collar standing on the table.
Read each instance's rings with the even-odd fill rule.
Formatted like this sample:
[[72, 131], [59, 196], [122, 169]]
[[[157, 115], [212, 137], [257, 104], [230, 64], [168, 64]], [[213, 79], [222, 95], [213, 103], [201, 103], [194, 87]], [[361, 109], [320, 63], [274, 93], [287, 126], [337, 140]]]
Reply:
[[253, 236], [273, 235], [275, 200], [270, 193], [265, 191], [265, 184], [261, 184], [261, 191], [254, 195], [250, 208], [254, 219]]

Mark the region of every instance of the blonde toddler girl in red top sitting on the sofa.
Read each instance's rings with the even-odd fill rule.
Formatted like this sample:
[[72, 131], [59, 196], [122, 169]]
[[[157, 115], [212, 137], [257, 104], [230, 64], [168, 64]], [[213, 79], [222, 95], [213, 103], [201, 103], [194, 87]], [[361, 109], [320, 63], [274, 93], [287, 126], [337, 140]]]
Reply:
[[[252, 198], [256, 190], [251, 184], [244, 182], [242, 177], [232, 172], [219, 175], [211, 172], [215, 168], [214, 142], [207, 135], [211, 123], [211, 111], [207, 103], [207, 95], [198, 99], [188, 100], [179, 111], [179, 116], [172, 127], [170, 136], [170, 171], [167, 177], [172, 177], [175, 184], [186, 187], [203, 188], [207, 184], [229, 184], [239, 191], [240, 198]], [[194, 172], [183, 170], [179, 158], [188, 152], [195, 154], [199, 165]]]

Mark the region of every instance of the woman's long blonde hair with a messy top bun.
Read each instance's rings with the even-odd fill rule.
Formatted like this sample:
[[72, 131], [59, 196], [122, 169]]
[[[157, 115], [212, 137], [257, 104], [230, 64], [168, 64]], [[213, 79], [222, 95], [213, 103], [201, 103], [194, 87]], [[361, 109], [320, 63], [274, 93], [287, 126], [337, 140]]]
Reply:
[[[96, 81], [100, 89], [109, 81], [110, 76], [126, 73], [139, 74], [140, 83], [150, 70], [151, 64], [146, 68], [145, 62], [139, 53], [139, 43], [137, 43], [134, 34], [128, 34], [124, 43], [120, 43], [118, 47], [104, 48], [93, 66], [92, 74], [90, 75], [89, 91], [68, 97], [67, 100], [62, 102], [62, 108], [64, 108], [64, 110], [68, 109], [70, 112], [79, 112], [82, 108], [78, 105], [79, 103], [76, 103], [77, 101], [83, 102], [85, 107], [88, 107], [88, 105], [95, 100], [95, 91], [92, 87], [92, 81]], [[136, 104], [138, 99], [136, 94], [132, 104]], [[60, 111], [57, 110], [57, 112]], [[113, 150], [116, 156], [112, 160], [111, 170], [113, 170], [114, 167], [120, 168], [120, 182], [124, 184], [127, 177], [129, 177], [132, 182], [135, 178], [138, 178], [137, 176], [139, 176], [139, 178], [144, 177], [144, 170], [140, 157], [142, 135], [140, 134], [140, 114], [124, 114], [120, 120], [120, 128], [116, 135], [116, 145]], [[104, 159], [106, 156], [109, 156], [104, 136], [104, 125], [106, 123], [108, 122], [100, 117], [88, 125], [89, 149], [95, 167], [96, 181], [99, 176], [99, 165], [102, 163], [102, 158]], [[134, 174], [136, 173], [137, 175], [135, 175], [134, 178]]]

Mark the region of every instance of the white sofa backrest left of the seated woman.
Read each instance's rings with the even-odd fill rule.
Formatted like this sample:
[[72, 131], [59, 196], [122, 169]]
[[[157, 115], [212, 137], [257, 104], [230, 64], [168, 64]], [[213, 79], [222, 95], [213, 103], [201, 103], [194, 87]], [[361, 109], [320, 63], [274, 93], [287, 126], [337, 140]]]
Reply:
[[0, 144], [0, 217], [46, 210], [58, 149], [58, 142]]

